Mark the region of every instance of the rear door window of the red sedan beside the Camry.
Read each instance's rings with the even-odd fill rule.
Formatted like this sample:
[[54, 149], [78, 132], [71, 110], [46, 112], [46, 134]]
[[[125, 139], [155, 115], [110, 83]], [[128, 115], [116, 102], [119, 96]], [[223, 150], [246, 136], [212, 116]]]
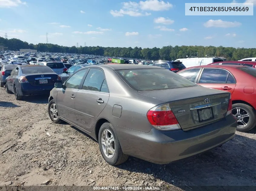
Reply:
[[199, 83], [225, 84], [229, 72], [218, 68], [204, 68]]

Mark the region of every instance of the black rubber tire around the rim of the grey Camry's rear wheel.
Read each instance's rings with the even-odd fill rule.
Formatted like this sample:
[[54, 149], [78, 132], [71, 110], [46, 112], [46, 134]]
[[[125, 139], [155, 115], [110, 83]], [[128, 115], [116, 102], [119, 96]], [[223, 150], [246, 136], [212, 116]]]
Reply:
[[[114, 138], [114, 142], [115, 142], [115, 154], [112, 158], [108, 158], [105, 156], [103, 148], [102, 148], [102, 144], [101, 144], [101, 135], [105, 129], [107, 129], [108, 131], [111, 132], [111, 134]], [[115, 165], [122, 164], [125, 161], [127, 161], [129, 155], [123, 153], [121, 145], [119, 143], [119, 140], [118, 140], [115, 132], [112, 129], [111, 123], [103, 123], [101, 125], [100, 130], [99, 130], [99, 135], [98, 135], [98, 143], [99, 143], [101, 155], [108, 164], [115, 166]]]

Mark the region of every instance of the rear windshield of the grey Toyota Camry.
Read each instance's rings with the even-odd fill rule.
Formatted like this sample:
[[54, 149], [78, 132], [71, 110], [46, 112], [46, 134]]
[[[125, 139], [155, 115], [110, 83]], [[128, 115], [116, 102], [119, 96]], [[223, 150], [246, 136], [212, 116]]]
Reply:
[[116, 70], [131, 88], [137, 91], [165, 90], [197, 86], [194, 82], [165, 69]]

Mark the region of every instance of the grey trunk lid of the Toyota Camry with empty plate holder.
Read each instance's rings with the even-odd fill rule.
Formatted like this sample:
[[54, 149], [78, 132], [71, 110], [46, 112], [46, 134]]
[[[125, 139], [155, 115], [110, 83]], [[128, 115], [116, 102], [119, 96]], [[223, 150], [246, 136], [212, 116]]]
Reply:
[[[195, 129], [224, 118], [230, 96], [230, 93], [201, 86], [139, 93], [169, 103], [183, 130]], [[170, 96], [166, 98], [166, 95]]]

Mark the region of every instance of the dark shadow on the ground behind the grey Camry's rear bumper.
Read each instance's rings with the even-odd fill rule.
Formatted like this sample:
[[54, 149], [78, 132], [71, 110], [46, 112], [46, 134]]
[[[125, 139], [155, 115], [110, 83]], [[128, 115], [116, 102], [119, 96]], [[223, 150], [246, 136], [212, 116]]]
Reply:
[[191, 190], [191, 186], [256, 186], [255, 143], [254, 139], [236, 135], [221, 147], [171, 164], [158, 165], [130, 157], [118, 168], [148, 173], [185, 190]]

